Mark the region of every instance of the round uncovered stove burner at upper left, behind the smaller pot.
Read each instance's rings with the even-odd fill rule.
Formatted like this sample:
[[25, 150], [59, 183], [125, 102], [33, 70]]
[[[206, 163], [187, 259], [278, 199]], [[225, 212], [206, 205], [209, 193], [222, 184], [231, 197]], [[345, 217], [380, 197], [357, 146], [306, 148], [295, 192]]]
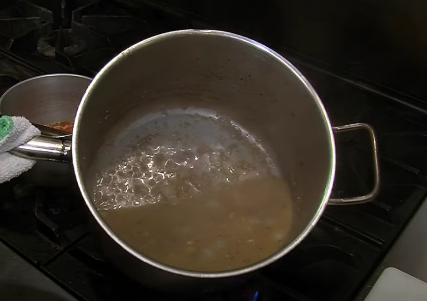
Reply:
[[44, 56], [56, 57], [57, 49], [68, 56], [81, 54], [87, 48], [86, 42], [75, 34], [73, 29], [53, 30], [46, 36], [40, 37], [37, 50]]

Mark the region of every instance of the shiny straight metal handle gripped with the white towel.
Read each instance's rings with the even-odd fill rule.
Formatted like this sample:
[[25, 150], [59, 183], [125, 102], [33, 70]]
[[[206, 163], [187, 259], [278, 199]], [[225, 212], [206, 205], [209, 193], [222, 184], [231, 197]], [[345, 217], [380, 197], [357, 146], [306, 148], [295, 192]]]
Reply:
[[22, 144], [9, 153], [17, 157], [31, 160], [48, 160], [56, 162], [72, 162], [71, 141], [72, 135], [62, 137], [35, 136], [27, 143]]

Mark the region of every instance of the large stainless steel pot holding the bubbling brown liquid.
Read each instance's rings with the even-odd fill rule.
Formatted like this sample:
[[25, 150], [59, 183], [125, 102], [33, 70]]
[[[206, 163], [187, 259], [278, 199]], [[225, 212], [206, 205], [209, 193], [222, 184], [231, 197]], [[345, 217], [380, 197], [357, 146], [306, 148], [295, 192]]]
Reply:
[[[251, 266], [200, 273], [148, 258], [109, 228], [92, 202], [92, 163], [100, 151], [113, 153], [105, 152], [105, 147], [117, 146], [120, 137], [126, 131], [134, 131], [144, 116], [169, 107], [205, 107], [225, 112], [265, 141], [275, 155], [275, 164], [292, 181], [293, 195], [298, 196], [294, 204], [296, 222], [288, 245]], [[333, 132], [356, 129], [366, 130], [371, 137], [375, 185], [365, 196], [329, 199], [336, 162]], [[222, 285], [241, 279], [297, 246], [328, 203], [367, 202], [379, 188], [375, 135], [370, 126], [333, 128], [313, 87], [288, 60], [246, 37], [214, 30], [160, 34], [131, 46], [103, 67], [80, 103], [72, 153], [81, 193], [101, 229], [104, 251], [126, 274], [161, 288]], [[69, 156], [64, 151], [55, 154], [54, 159], [60, 160]]]

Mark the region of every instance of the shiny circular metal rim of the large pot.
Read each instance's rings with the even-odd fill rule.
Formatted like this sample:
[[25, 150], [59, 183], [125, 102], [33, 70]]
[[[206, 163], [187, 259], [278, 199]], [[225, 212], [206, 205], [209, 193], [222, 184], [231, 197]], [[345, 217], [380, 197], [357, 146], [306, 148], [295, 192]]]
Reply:
[[[82, 177], [82, 174], [80, 173], [80, 162], [78, 160], [78, 158], [79, 158], [79, 142], [77, 140], [77, 136], [79, 134], [79, 125], [82, 122], [81, 121], [82, 112], [84, 111], [85, 104], [90, 99], [91, 91], [95, 88], [97, 82], [102, 80], [102, 78], [104, 77], [104, 74], [106, 74], [108, 72], [110, 66], [112, 66], [113, 64], [119, 63], [121, 59], [125, 58], [128, 55], [131, 55], [133, 51], [135, 51], [139, 48], [145, 47], [145, 46], [153, 44], [153, 43], [161, 42], [161, 41], [166, 40], [172, 36], [181, 36], [181, 35], [189, 35], [189, 34], [207, 35], [207, 36], [216, 35], [216, 36], [224, 36], [224, 37], [228, 37], [231, 39], [238, 40], [239, 42], [246, 43], [252, 47], [258, 48], [259, 50], [261, 50], [265, 53], [268, 53], [270, 56], [274, 57], [278, 62], [280, 62], [284, 67], [291, 70], [294, 73], [294, 75], [300, 80], [300, 82], [305, 86], [307, 91], [311, 94], [313, 100], [316, 102], [318, 109], [319, 109], [319, 112], [323, 116], [323, 120], [324, 120], [325, 126], [326, 126], [327, 131], [328, 131], [329, 145], [330, 145], [330, 149], [331, 149], [331, 162], [330, 162], [330, 166], [329, 166], [329, 176], [328, 176], [327, 184], [325, 186], [323, 199], [322, 199], [322, 202], [319, 205], [317, 211], [315, 212], [313, 218], [311, 219], [309, 224], [306, 226], [306, 228], [292, 242], [290, 242], [289, 244], [284, 246], [282, 249], [280, 249], [276, 253], [270, 255], [269, 257], [267, 257], [267, 258], [265, 258], [259, 262], [256, 262], [255, 264], [252, 264], [250, 266], [243, 267], [240, 269], [230, 270], [230, 271], [224, 271], [224, 272], [195, 272], [195, 271], [188, 271], [188, 270], [179, 269], [179, 268], [173, 268], [173, 267], [164, 265], [161, 262], [153, 260], [153, 259], [139, 253], [138, 251], [136, 251], [135, 249], [133, 249], [129, 245], [127, 245], [104, 222], [104, 220], [102, 219], [101, 215], [99, 214], [97, 208], [95, 207], [94, 203], [92, 202], [92, 200], [91, 200], [91, 198], [90, 198], [90, 196], [86, 190], [85, 184], [83, 182], [83, 177]], [[143, 40], [141, 42], [138, 42], [135, 45], [130, 46], [128, 49], [122, 51], [115, 58], [113, 58], [109, 63], [107, 63], [98, 72], [98, 74], [96, 74], [95, 78], [92, 80], [89, 87], [87, 88], [85, 94], [83, 95], [82, 101], [80, 102], [79, 108], [77, 110], [77, 115], [76, 115], [76, 120], [74, 123], [73, 133], [74, 134], [73, 134], [73, 142], [72, 142], [72, 153], [73, 153], [74, 171], [76, 174], [77, 182], [78, 182], [80, 191], [83, 195], [83, 198], [85, 200], [85, 203], [89, 208], [90, 213], [96, 219], [97, 223], [101, 226], [103, 231], [105, 231], [110, 236], [110, 238], [112, 238], [115, 241], [115, 243], [117, 243], [119, 246], [121, 246], [123, 249], [125, 249], [129, 254], [131, 254], [135, 258], [137, 258], [137, 259], [139, 259], [139, 260], [141, 260], [141, 261], [145, 262], [146, 264], [149, 264], [153, 267], [161, 269], [163, 271], [173, 273], [173, 274], [177, 274], [177, 275], [182, 275], [182, 276], [188, 276], [188, 277], [194, 277], [194, 278], [222, 278], [222, 277], [238, 276], [238, 275], [242, 275], [242, 274], [246, 274], [246, 273], [256, 271], [262, 267], [265, 267], [265, 266], [271, 264], [272, 262], [276, 261], [280, 257], [286, 255], [292, 249], [294, 249], [294, 247], [297, 246], [308, 235], [308, 233], [311, 231], [311, 229], [317, 223], [318, 219], [321, 217], [321, 215], [322, 215], [322, 213], [323, 213], [323, 211], [324, 211], [324, 209], [328, 203], [329, 197], [331, 195], [332, 185], [333, 185], [334, 177], [335, 177], [335, 165], [336, 165], [336, 154], [335, 153], [336, 152], [335, 152], [335, 140], [334, 140], [334, 135], [333, 135], [333, 131], [332, 131], [332, 126], [331, 126], [328, 114], [326, 112], [326, 109], [325, 109], [321, 99], [319, 98], [319, 96], [315, 92], [314, 88], [307, 81], [307, 79], [303, 76], [303, 74], [293, 64], [291, 64], [291, 62], [289, 62], [287, 59], [282, 57], [277, 52], [271, 50], [270, 48], [254, 41], [252, 39], [248, 39], [247, 37], [244, 37], [244, 36], [241, 36], [241, 35], [238, 35], [235, 33], [226, 32], [226, 31], [200, 30], [200, 29], [185, 29], [185, 30], [170, 31], [170, 32], [159, 34], [159, 35], [155, 35], [153, 37], [149, 37], [148, 39]]]

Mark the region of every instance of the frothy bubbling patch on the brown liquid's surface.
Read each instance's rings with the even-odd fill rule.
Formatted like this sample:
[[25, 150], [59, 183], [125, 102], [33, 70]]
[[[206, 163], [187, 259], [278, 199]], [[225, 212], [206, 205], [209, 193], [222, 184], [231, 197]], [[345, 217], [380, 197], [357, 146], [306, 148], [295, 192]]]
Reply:
[[[166, 118], [168, 127], [158, 127]], [[151, 123], [120, 159], [97, 173], [93, 199], [99, 209], [174, 203], [274, 173], [256, 139], [229, 119], [189, 115], [174, 121], [168, 115]]]

